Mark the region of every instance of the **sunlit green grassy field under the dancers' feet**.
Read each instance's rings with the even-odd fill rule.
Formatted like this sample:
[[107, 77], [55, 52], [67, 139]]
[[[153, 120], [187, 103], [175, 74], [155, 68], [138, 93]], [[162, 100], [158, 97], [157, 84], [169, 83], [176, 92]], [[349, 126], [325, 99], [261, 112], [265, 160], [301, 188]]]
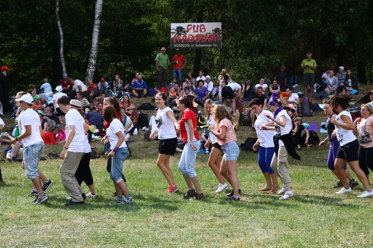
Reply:
[[[136, 105], [140, 102], [144, 99], [134, 100]], [[319, 123], [324, 119], [319, 112], [304, 120]], [[6, 116], [4, 120], [10, 125]], [[207, 165], [207, 155], [198, 154], [195, 167], [206, 199], [190, 201], [182, 197], [187, 186], [178, 169], [180, 154], [171, 158], [170, 166], [181, 192], [167, 194], [167, 181], [156, 165], [158, 142], [144, 142], [142, 134], [140, 131], [139, 136], [132, 137], [133, 157], [123, 168], [134, 200], [130, 205], [112, 202], [114, 187], [103, 158], [91, 161], [97, 198], [72, 207], [64, 206], [67, 194], [60, 179], [61, 160], [40, 162], [40, 170], [54, 183], [47, 191], [49, 200], [37, 206], [30, 203], [31, 183], [20, 163], [1, 164], [4, 183], [0, 184], [0, 246], [373, 246], [373, 199], [357, 197], [364, 191], [361, 185], [352, 194], [335, 194], [337, 190], [332, 186], [337, 178], [326, 166], [328, 147], [303, 149], [298, 152], [301, 161], [290, 159], [295, 197], [287, 201], [259, 191], [265, 180], [253, 152], [241, 152], [238, 160], [241, 201], [225, 201], [225, 194], [215, 193], [218, 181]], [[237, 143], [254, 135], [251, 128], [240, 127]], [[91, 145], [97, 151], [103, 150], [97, 141]], [[47, 146], [44, 154], [59, 153], [62, 148]], [[87, 186], [82, 185], [88, 193]]]

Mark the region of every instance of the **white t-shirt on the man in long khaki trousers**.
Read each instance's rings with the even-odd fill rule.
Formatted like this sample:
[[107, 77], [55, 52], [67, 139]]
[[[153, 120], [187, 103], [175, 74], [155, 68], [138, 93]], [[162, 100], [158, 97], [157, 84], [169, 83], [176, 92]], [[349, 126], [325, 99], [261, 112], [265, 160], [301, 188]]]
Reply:
[[68, 152], [86, 153], [86, 135], [84, 133], [84, 118], [76, 109], [70, 109], [66, 115], [66, 137], [69, 136], [69, 127], [75, 128], [75, 135], [71, 142]]

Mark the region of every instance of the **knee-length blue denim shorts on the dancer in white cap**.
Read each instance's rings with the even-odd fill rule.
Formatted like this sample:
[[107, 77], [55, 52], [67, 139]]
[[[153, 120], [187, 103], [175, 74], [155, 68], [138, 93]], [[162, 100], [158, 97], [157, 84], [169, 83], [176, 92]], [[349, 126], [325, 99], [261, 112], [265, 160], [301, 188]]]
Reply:
[[27, 178], [31, 180], [38, 177], [38, 164], [44, 151], [44, 142], [38, 142], [23, 149], [24, 169]]

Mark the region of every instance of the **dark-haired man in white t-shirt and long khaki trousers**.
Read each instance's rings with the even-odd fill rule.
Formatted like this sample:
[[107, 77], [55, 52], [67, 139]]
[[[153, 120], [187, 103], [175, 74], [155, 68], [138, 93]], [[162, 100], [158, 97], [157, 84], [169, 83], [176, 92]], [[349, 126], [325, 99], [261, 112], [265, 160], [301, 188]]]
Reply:
[[86, 152], [86, 134], [83, 116], [78, 110], [72, 108], [72, 106], [81, 108], [82, 103], [78, 100], [72, 100], [70, 103], [67, 96], [58, 98], [57, 103], [65, 113], [66, 127], [68, 127], [66, 143], [60, 154], [60, 159], [64, 160], [60, 167], [61, 182], [66, 193], [71, 197], [71, 201], [65, 206], [84, 204], [84, 191], [75, 178], [75, 172]]

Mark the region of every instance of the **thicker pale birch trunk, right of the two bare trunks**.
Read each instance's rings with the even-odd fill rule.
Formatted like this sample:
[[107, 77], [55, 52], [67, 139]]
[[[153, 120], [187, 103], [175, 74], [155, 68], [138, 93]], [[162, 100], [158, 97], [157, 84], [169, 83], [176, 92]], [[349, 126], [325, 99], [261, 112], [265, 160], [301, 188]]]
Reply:
[[103, 0], [96, 0], [96, 6], [94, 10], [94, 24], [92, 33], [92, 46], [90, 59], [88, 60], [88, 68], [86, 73], [85, 83], [93, 80], [94, 71], [96, 69], [96, 62], [98, 56], [98, 45], [100, 40], [100, 29], [101, 29], [101, 19], [102, 19], [102, 3]]

